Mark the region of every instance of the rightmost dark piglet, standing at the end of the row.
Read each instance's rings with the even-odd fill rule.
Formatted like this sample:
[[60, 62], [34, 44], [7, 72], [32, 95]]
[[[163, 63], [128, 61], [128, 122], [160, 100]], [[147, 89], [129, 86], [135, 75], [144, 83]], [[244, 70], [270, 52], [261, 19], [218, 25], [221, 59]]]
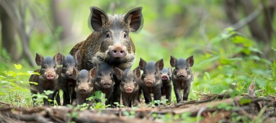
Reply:
[[[187, 59], [171, 56], [170, 64], [175, 67], [172, 73], [172, 81], [177, 103], [182, 100], [188, 100], [190, 93], [191, 83], [194, 80], [191, 67], [194, 65], [193, 55]], [[181, 98], [180, 91], [183, 91], [183, 98]]]

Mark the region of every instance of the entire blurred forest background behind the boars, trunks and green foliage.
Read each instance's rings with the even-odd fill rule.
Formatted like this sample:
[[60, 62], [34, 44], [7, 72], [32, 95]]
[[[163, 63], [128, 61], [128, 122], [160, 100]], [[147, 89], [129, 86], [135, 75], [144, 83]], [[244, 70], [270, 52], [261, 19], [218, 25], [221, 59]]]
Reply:
[[[0, 100], [27, 101], [24, 105], [30, 106], [29, 76], [12, 72], [40, 68], [35, 53], [66, 55], [85, 40], [93, 31], [87, 26], [90, 6], [111, 14], [143, 7], [143, 28], [131, 33], [137, 56], [133, 69], [140, 57], [163, 58], [168, 68], [170, 55], [194, 55], [189, 100], [201, 94], [241, 95], [253, 80], [257, 96], [275, 95], [275, 1], [4, 0], [0, 1]], [[175, 97], [172, 101], [176, 103]]]

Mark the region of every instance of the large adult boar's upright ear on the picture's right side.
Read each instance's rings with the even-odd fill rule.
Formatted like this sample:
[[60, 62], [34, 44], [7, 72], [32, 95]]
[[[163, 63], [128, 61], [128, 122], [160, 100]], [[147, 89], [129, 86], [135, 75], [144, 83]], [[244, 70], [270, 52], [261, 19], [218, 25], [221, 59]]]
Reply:
[[142, 7], [137, 7], [125, 14], [124, 21], [129, 24], [131, 27], [131, 31], [136, 32], [139, 29], [143, 28], [143, 15], [142, 15]]

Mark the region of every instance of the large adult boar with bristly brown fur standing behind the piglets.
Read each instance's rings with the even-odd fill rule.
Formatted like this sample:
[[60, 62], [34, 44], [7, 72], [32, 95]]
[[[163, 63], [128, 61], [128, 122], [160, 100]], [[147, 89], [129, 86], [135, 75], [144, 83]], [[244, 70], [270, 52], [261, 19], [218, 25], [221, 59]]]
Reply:
[[142, 7], [132, 9], [125, 15], [106, 14], [97, 7], [90, 7], [90, 11], [88, 25], [94, 31], [70, 51], [73, 55], [80, 50], [82, 60], [79, 69], [90, 70], [101, 63], [122, 70], [131, 68], [136, 56], [129, 33], [142, 28]]

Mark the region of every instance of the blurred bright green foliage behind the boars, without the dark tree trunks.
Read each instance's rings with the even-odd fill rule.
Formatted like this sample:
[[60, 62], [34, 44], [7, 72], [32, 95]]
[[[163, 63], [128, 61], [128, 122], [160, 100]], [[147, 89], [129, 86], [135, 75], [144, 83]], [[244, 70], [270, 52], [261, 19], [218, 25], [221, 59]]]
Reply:
[[[262, 56], [264, 44], [251, 38], [247, 28], [236, 32], [227, 22], [222, 1], [63, 1], [59, 8], [70, 9], [72, 36], [62, 42], [61, 27], [53, 30], [51, 4], [49, 1], [28, 1], [26, 26], [30, 27], [31, 12], [38, 16], [36, 27], [30, 37], [30, 50], [43, 56], [53, 56], [57, 52], [64, 55], [91, 33], [87, 27], [90, 6], [97, 6], [108, 13], [126, 13], [142, 6], [144, 27], [138, 34], [131, 34], [136, 46], [136, 62], [139, 58], [157, 61], [164, 59], [164, 66], [170, 67], [170, 55], [187, 58], [194, 55], [194, 82], [189, 99], [197, 99], [198, 93], [247, 93], [247, 88], [255, 78], [257, 96], [275, 95], [276, 63]], [[31, 9], [30, 9], [31, 8]], [[275, 27], [275, 25], [274, 25]], [[272, 39], [272, 53], [276, 52], [275, 37]], [[1, 50], [0, 71], [14, 71], [8, 53]], [[275, 59], [272, 55], [270, 59]], [[34, 59], [33, 59], [34, 60]], [[22, 71], [33, 71], [22, 59]], [[2, 72], [0, 75], [5, 75]], [[22, 78], [28, 81], [28, 76]], [[3, 79], [1, 80], [3, 84]], [[3, 85], [1, 86], [3, 87]], [[28, 86], [24, 86], [29, 90]], [[0, 93], [5, 91], [0, 89]], [[172, 101], [176, 102], [174, 93]], [[0, 100], [3, 100], [0, 99]], [[182, 116], [181, 116], [182, 117]]]

